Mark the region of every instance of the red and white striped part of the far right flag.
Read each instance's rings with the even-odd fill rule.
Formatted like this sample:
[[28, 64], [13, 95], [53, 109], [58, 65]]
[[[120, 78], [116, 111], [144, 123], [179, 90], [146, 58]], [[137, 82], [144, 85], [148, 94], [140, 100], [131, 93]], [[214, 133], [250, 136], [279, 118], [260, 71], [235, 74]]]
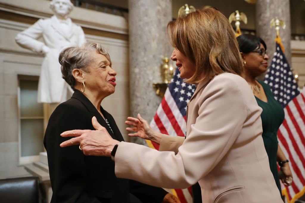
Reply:
[[282, 193], [289, 203], [294, 203], [305, 193], [305, 87], [284, 111], [285, 120], [278, 130], [278, 141], [289, 159], [293, 182], [289, 187], [282, 184]]

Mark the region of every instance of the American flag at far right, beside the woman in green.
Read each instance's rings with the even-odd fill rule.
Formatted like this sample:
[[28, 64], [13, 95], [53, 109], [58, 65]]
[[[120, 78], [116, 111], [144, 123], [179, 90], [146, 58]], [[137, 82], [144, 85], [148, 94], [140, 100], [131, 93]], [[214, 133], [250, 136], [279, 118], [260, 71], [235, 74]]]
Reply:
[[300, 93], [278, 43], [264, 82], [270, 86], [274, 98], [282, 104], [285, 111], [285, 120], [278, 130], [278, 140], [289, 159], [293, 182], [291, 186], [285, 186], [282, 193], [293, 203], [305, 192], [305, 88]]

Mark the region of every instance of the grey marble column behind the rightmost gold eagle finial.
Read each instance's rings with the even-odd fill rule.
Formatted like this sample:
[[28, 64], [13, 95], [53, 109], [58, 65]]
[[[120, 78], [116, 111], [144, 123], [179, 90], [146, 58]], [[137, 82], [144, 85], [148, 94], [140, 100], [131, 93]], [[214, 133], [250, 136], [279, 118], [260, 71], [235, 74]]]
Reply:
[[256, 31], [267, 45], [267, 52], [269, 56], [268, 64], [270, 65], [273, 53], [275, 51], [276, 37], [275, 28], [270, 28], [271, 19], [278, 17], [286, 23], [286, 28], [280, 28], [280, 37], [285, 48], [285, 56], [291, 65], [291, 19], [290, 19], [290, 3], [289, 0], [257, 0], [256, 1]]

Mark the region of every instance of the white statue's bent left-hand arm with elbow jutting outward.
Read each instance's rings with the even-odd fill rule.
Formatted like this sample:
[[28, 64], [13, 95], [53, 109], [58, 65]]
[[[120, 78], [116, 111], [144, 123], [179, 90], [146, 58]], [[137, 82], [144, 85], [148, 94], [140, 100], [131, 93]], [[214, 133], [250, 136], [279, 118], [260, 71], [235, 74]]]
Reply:
[[35, 52], [42, 52], [42, 47], [45, 45], [43, 42], [38, 41], [43, 34], [43, 20], [38, 20], [34, 25], [26, 30], [18, 33], [15, 40], [16, 43], [23, 48], [30, 49]]

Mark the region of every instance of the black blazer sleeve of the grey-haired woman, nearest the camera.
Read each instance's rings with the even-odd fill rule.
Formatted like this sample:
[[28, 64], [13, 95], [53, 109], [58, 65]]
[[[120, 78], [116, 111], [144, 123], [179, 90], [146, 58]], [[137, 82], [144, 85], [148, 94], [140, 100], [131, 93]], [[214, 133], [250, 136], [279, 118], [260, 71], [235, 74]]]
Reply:
[[[85, 190], [87, 185], [84, 154], [79, 145], [61, 148], [63, 131], [88, 129], [88, 117], [71, 106], [60, 104], [51, 115], [45, 132], [45, 148], [48, 154], [49, 174], [52, 185], [52, 202], [100, 203]], [[91, 124], [92, 125], [92, 124]]]

